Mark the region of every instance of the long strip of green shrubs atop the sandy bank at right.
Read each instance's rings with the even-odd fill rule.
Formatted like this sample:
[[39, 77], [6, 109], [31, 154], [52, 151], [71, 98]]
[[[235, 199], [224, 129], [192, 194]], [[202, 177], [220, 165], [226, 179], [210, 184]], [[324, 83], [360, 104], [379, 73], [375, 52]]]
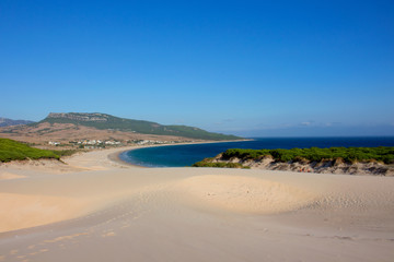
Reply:
[[383, 162], [394, 164], [394, 147], [329, 147], [329, 148], [292, 148], [292, 150], [241, 150], [232, 148], [222, 154], [222, 158], [237, 157], [242, 159], [258, 159], [271, 156], [278, 162], [321, 162], [343, 159], [346, 163]]

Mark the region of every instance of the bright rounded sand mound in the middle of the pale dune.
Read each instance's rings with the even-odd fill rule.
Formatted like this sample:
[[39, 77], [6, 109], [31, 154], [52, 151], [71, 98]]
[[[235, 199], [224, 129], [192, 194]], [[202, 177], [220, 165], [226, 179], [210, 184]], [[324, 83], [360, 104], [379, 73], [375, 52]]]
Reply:
[[206, 175], [176, 184], [188, 201], [199, 206], [231, 212], [274, 214], [298, 210], [317, 194], [281, 182], [254, 177]]

